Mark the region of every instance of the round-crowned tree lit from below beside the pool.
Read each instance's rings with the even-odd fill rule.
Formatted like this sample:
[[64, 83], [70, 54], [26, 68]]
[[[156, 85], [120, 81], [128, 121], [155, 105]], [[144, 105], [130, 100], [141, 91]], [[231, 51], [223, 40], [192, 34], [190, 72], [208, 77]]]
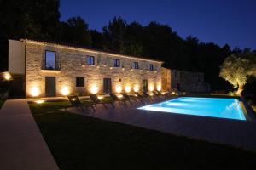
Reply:
[[231, 54], [220, 67], [219, 76], [237, 88], [236, 94], [239, 95], [247, 83], [247, 78], [256, 76], [255, 58], [250, 53]]

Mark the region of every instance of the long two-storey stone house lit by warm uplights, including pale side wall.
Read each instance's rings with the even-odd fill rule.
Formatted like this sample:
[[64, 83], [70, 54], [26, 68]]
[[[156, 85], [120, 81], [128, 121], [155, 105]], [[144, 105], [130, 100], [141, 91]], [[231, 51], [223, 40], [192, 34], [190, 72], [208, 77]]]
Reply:
[[59, 43], [9, 40], [9, 72], [23, 77], [26, 97], [160, 90], [161, 64]]

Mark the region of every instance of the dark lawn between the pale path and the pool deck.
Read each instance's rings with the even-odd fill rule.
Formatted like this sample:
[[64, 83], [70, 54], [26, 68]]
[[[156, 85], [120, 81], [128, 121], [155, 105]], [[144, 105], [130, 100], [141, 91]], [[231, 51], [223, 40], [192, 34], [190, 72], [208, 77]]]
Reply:
[[59, 111], [64, 105], [30, 104], [61, 169], [255, 167], [253, 152]]

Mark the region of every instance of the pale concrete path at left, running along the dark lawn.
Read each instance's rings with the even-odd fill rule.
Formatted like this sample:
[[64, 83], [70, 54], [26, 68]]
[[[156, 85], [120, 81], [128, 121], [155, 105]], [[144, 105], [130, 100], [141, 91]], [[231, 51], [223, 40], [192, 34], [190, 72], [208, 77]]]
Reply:
[[0, 169], [59, 169], [26, 99], [7, 100], [0, 110]]

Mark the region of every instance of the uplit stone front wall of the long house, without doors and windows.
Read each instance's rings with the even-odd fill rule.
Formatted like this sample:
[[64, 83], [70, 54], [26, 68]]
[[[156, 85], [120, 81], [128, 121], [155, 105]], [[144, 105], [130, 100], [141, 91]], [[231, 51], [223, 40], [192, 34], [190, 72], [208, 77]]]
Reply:
[[[62, 96], [63, 89], [68, 94], [102, 94], [103, 78], [111, 78], [113, 93], [116, 88], [141, 91], [144, 79], [148, 80], [148, 89], [161, 88], [160, 61], [47, 42], [24, 40], [21, 43], [26, 48], [26, 97], [31, 97], [33, 92], [38, 97], [45, 96], [45, 77], [55, 77], [56, 96]], [[58, 70], [44, 69], [45, 50], [55, 51]], [[95, 65], [84, 62], [87, 55], [94, 56]], [[120, 67], [113, 67], [113, 59], [120, 59]], [[133, 62], [138, 62], [139, 69], [131, 69]], [[149, 71], [150, 64], [154, 65], [154, 71]], [[84, 87], [76, 88], [76, 77], [84, 77]]]

